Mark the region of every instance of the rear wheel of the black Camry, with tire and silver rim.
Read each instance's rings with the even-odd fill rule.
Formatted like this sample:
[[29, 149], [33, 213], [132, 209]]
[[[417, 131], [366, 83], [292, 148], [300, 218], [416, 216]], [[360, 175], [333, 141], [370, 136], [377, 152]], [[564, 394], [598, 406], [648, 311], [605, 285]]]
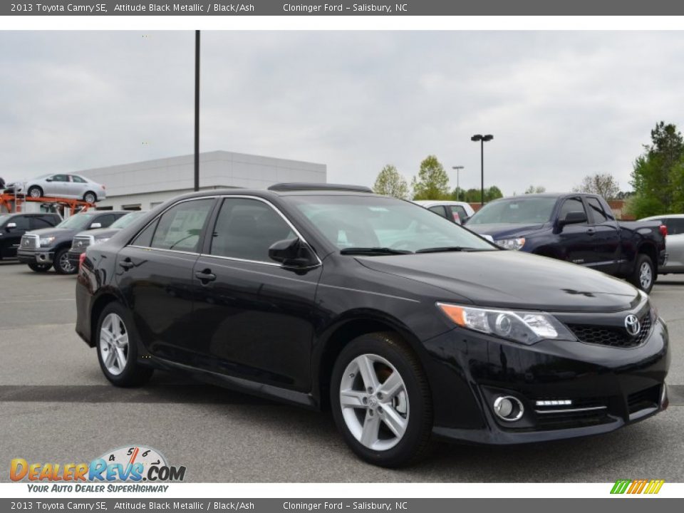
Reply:
[[105, 378], [119, 387], [139, 386], [150, 379], [154, 369], [138, 363], [138, 339], [133, 321], [118, 302], [110, 303], [100, 314], [95, 331], [95, 347]]

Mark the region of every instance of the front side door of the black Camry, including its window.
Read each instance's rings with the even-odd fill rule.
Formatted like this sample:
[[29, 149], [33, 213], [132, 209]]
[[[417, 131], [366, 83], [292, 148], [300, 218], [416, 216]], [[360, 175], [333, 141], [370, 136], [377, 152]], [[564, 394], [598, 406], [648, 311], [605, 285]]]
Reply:
[[226, 197], [193, 273], [196, 338], [212, 371], [311, 389], [314, 296], [321, 266], [284, 269], [271, 244], [301, 235], [269, 202]]

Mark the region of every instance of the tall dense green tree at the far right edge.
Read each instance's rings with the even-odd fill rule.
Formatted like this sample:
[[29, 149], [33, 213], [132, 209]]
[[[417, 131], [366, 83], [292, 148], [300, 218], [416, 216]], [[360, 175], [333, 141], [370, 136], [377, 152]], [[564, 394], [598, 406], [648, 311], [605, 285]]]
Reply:
[[684, 209], [684, 138], [676, 125], [660, 121], [651, 130], [651, 144], [634, 161], [634, 196], [627, 211], [641, 218]]

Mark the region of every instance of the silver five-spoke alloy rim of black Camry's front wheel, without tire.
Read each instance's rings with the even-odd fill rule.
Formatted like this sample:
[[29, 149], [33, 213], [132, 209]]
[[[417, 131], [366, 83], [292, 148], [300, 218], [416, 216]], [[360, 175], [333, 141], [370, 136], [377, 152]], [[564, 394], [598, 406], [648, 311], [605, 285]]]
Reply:
[[391, 449], [408, 427], [406, 385], [382, 356], [363, 354], [348, 364], [340, 383], [340, 406], [349, 432], [369, 449]]

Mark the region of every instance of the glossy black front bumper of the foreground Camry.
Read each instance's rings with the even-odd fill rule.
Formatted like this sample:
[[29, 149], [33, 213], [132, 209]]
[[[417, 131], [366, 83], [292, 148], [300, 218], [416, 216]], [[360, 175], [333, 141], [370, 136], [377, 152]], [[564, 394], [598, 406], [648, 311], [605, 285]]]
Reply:
[[[435, 366], [428, 370], [433, 432], [450, 440], [516, 444], [596, 435], [651, 417], [668, 407], [670, 353], [663, 321], [656, 319], [649, 331], [634, 348], [579, 341], [524, 346], [459, 328], [427, 341]], [[519, 420], [495, 415], [494, 400], [502, 395], [522, 403]]]

